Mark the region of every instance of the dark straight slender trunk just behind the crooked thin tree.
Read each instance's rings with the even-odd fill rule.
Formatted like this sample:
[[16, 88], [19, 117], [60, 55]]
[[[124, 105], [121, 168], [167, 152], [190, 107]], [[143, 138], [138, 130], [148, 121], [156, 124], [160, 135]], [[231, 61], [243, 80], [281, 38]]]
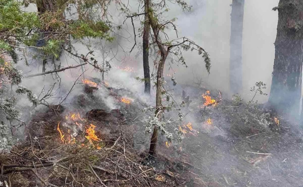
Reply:
[[150, 0], [144, 0], [144, 29], [143, 29], [143, 70], [144, 70], [144, 92], [147, 94], [151, 93], [151, 81], [149, 74], [149, 29], [150, 23], [148, 18]]

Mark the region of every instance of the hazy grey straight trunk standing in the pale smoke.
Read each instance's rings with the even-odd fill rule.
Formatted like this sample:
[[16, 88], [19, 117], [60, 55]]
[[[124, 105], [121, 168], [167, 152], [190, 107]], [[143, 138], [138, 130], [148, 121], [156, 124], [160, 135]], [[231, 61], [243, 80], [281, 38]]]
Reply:
[[233, 0], [231, 8], [230, 36], [230, 90], [233, 94], [242, 90], [242, 32], [244, 0]]

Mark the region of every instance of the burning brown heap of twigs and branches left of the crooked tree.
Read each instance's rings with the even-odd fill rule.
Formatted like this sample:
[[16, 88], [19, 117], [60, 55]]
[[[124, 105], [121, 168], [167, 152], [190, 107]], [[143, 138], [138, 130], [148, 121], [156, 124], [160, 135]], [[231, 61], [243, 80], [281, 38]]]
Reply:
[[[64, 115], [49, 111], [36, 116], [31, 124], [26, 125], [27, 140], [0, 156], [1, 176], [7, 186], [175, 184], [164, 171], [147, 167], [144, 158], [132, 149], [132, 126], [123, 124], [125, 119], [118, 110], [111, 113], [92, 110], [86, 116], [83, 125], [87, 130], [87, 124], [95, 124], [94, 133], [99, 142], [93, 140], [91, 144], [86, 133], [75, 137], [73, 143], [62, 142], [56, 128], [58, 120], [64, 121]], [[49, 119], [47, 122], [46, 118]]]

